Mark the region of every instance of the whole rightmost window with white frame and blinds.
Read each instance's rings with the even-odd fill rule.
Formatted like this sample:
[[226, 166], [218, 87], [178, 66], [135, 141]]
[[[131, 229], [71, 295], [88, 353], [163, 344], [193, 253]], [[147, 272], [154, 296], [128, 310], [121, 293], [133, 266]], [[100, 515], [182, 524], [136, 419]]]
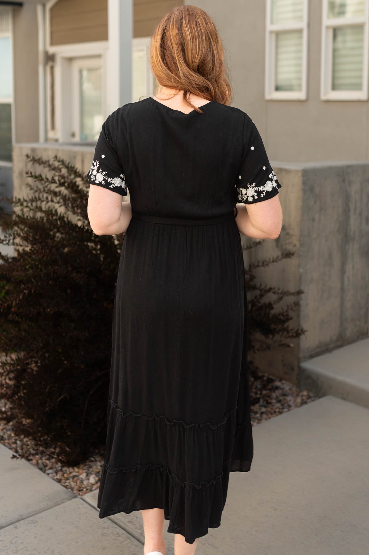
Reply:
[[323, 0], [322, 100], [368, 99], [369, 0]]

